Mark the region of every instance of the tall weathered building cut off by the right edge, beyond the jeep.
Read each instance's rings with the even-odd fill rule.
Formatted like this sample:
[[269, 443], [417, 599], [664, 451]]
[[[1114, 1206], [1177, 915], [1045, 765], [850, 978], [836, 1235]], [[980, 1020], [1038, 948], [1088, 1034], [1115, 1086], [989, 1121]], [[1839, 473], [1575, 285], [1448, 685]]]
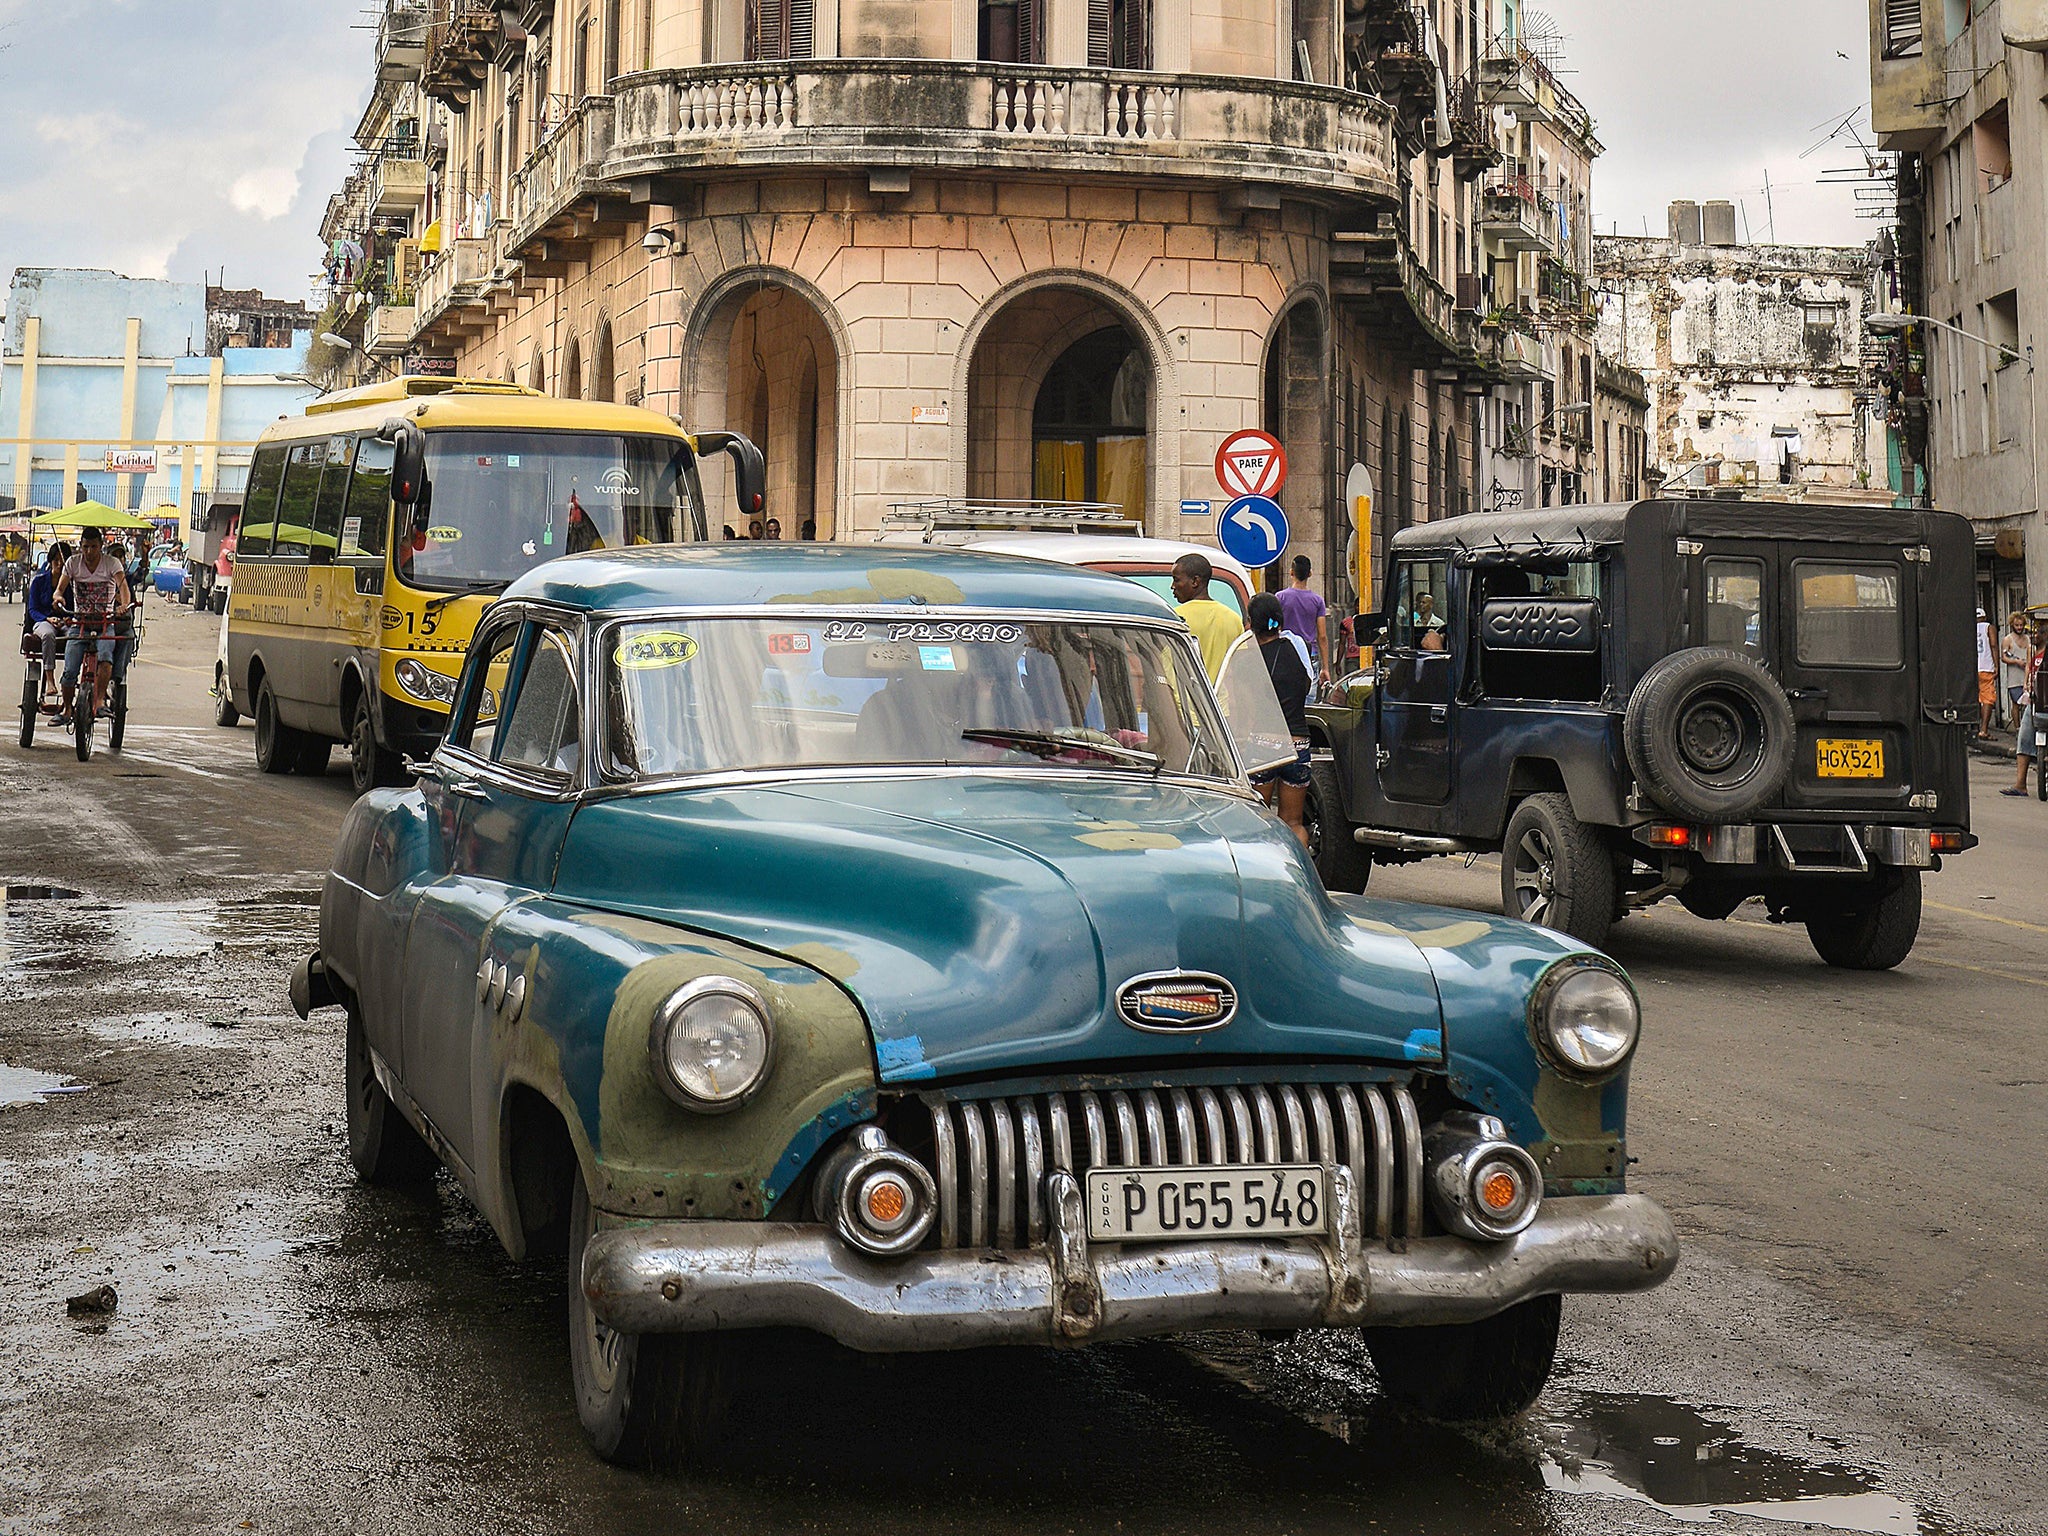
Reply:
[[1872, 127], [1903, 156], [1886, 342], [1905, 449], [1933, 504], [1976, 524], [1993, 618], [2048, 600], [2034, 336], [2048, 305], [2048, 0], [1870, 0]]

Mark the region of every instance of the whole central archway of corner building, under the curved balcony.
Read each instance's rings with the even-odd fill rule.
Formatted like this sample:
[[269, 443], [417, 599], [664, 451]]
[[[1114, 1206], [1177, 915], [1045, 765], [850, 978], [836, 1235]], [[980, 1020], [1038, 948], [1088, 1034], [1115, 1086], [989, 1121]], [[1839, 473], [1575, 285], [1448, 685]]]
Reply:
[[967, 365], [967, 494], [1098, 502], [1145, 524], [1159, 385], [1151, 350], [1104, 297], [1047, 285], [1001, 305]]

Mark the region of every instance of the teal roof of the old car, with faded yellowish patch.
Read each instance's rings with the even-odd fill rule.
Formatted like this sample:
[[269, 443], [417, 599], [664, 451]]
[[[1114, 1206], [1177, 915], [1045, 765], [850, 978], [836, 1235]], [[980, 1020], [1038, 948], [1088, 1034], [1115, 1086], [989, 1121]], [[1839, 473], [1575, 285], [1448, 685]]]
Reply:
[[592, 612], [903, 604], [1174, 616], [1171, 604], [1137, 582], [1042, 559], [930, 545], [745, 539], [563, 555], [526, 571], [506, 596]]

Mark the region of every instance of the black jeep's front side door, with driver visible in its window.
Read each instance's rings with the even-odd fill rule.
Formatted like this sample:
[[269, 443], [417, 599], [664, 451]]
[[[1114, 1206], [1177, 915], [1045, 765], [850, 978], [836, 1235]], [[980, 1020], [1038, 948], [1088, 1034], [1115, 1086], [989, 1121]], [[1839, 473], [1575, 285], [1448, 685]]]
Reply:
[[1458, 645], [1450, 559], [1419, 555], [1395, 565], [1393, 610], [1380, 647], [1380, 795], [1442, 805], [1450, 799], [1452, 666]]

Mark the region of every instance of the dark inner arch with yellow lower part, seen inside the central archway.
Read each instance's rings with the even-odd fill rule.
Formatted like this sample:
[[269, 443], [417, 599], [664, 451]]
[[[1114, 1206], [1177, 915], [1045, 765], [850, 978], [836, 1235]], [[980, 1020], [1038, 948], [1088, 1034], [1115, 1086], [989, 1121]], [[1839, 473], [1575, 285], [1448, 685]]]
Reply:
[[1061, 352], [1032, 408], [1032, 494], [1044, 502], [1108, 502], [1145, 518], [1145, 432], [1151, 371], [1120, 326]]

